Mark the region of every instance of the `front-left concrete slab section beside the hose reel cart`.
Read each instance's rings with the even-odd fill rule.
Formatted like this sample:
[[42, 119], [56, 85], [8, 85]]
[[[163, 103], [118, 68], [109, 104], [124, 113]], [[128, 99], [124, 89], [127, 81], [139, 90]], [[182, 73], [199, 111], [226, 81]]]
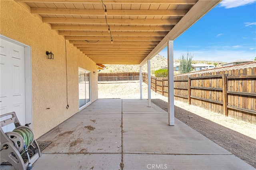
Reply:
[[43, 154], [32, 170], [118, 170], [121, 154]]

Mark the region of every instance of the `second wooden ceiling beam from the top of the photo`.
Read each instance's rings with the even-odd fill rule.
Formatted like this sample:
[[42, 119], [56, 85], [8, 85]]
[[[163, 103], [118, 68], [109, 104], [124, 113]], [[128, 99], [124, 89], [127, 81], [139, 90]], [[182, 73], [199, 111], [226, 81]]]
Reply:
[[[31, 8], [31, 14], [105, 16], [105, 10], [71, 8]], [[185, 16], [188, 10], [107, 10], [107, 16]]]

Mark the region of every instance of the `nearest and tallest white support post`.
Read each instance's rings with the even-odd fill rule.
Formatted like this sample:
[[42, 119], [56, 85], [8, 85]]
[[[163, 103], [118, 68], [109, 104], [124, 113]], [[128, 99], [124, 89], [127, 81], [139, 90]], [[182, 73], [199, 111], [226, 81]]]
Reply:
[[173, 40], [167, 42], [168, 51], [168, 125], [174, 126], [174, 70]]

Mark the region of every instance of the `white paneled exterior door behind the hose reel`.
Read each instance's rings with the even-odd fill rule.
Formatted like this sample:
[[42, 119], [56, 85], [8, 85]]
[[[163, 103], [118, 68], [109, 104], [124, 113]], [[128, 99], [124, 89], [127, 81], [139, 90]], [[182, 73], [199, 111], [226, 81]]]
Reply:
[[[0, 114], [15, 111], [21, 125], [24, 125], [26, 119], [24, 47], [4, 39], [0, 41], [0, 79]], [[12, 131], [13, 128], [14, 125], [2, 127], [5, 132]]]

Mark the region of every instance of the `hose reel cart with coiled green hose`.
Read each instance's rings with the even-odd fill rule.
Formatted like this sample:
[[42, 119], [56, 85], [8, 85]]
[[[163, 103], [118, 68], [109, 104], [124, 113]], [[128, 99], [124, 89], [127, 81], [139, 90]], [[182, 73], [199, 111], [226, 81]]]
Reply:
[[[10, 118], [2, 120], [2, 117], [5, 116]], [[10, 162], [16, 170], [30, 170], [32, 164], [41, 156], [40, 148], [34, 139], [32, 129], [28, 124], [21, 126], [15, 112], [6, 113], [0, 117], [1, 164], [3, 162]], [[4, 133], [2, 127], [11, 123], [14, 123], [15, 129]]]

